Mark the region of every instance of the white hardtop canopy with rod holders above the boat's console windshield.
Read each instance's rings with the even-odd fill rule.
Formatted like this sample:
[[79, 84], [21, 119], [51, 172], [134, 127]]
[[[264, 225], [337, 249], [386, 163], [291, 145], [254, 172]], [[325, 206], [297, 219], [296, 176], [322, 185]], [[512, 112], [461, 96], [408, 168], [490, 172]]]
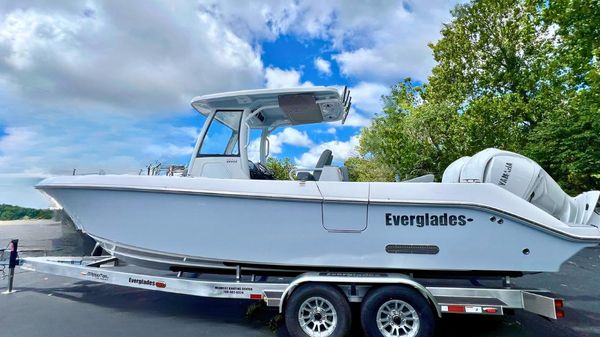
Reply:
[[192, 106], [208, 116], [213, 110], [250, 109], [250, 127], [276, 127], [346, 119], [350, 91], [328, 87], [257, 89], [195, 97]]

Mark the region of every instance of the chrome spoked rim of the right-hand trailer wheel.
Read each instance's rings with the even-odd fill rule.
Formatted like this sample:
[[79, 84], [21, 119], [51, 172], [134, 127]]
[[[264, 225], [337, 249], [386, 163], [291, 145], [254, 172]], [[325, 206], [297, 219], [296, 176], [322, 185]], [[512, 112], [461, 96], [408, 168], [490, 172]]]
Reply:
[[402, 300], [389, 300], [377, 310], [377, 328], [385, 337], [414, 337], [419, 333], [419, 314]]

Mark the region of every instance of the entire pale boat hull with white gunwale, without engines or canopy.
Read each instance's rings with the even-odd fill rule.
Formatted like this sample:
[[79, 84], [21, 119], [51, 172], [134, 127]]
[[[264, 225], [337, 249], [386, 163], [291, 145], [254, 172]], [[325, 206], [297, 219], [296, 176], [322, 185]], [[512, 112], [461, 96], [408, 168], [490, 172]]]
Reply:
[[[96, 176], [38, 188], [109, 252], [165, 268], [551, 272], [600, 239], [491, 184], [256, 183]], [[335, 184], [345, 196], [328, 194]]]

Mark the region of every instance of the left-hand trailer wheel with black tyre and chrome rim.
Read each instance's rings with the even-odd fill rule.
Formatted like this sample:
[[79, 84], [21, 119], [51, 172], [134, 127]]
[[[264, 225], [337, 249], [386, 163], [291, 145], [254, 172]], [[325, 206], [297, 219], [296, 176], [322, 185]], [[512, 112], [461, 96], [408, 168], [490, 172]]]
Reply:
[[346, 296], [328, 284], [307, 284], [292, 292], [285, 307], [285, 324], [294, 337], [345, 337], [351, 327]]

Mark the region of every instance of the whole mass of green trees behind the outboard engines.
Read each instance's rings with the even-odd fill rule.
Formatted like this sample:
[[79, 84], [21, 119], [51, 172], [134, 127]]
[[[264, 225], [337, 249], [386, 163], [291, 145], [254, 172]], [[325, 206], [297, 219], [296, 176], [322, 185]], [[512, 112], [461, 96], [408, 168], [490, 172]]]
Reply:
[[359, 159], [439, 178], [496, 147], [530, 156], [571, 193], [600, 189], [600, 1], [476, 0], [452, 15], [430, 44], [428, 83], [392, 87]]

